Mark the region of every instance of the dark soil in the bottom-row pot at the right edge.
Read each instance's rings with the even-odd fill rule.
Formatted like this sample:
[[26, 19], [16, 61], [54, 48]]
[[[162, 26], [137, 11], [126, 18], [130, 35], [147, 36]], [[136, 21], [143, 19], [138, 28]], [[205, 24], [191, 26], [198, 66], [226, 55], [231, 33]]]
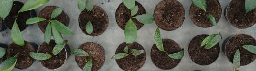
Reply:
[[229, 39], [225, 47], [225, 54], [229, 61], [233, 62], [234, 54], [238, 49], [241, 54], [240, 65], [247, 65], [255, 60], [256, 55], [242, 48], [243, 45], [256, 45], [256, 41], [252, 36], [245, 34], [235, 35]]

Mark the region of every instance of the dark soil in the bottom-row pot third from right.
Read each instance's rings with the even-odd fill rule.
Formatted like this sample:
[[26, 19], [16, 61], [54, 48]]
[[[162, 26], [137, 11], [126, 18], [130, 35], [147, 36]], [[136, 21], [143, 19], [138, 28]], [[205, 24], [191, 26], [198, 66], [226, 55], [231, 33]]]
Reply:
[[[182, 51], [179, 44], [177, 44], [175, 41], [170, 39], [163, 39], [162, 41], [164, 45], [164, 50], [168, 54], [173, 54]], [[152, 46], [150, 56], [152, 62], [155, 64], [156, 67], [167, 70], [173, 69], [179, 64], [181, 59], [173, 59], [169, 57], [167, 53], [159, 51], [155, 44]]]

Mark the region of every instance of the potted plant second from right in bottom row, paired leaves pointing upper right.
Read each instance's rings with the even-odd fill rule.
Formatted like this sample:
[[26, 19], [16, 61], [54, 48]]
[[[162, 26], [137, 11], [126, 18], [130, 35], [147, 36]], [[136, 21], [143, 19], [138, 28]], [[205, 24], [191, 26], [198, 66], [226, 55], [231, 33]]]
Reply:
[[220, 34], [197, 35], [189, 43], [188, 53], [191, 60], [199, 65], [209, 65], [217, 60], [220, 53]]

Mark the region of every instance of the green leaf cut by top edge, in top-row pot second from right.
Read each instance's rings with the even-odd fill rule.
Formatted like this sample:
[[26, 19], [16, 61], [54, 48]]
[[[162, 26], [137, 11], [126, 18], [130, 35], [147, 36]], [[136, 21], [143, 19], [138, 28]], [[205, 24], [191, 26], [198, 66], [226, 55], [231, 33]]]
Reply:
[[200, 9], [203, 9], [204, 11], [206, 11], [206, 2], [205, 0], [192, 0], [192, 3], [200, 8]]

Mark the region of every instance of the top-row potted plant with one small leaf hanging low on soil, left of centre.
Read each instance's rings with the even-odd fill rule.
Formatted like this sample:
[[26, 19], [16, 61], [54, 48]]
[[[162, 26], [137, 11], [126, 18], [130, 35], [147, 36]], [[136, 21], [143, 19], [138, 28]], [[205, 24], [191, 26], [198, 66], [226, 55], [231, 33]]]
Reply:
[[78, 0], [78, 9], [81, 11], [78, 22], [82, 32], [86, 35], [101, 35], [108, 27], [107, 13], [99, 6], [94, 5], [94, 0]]

